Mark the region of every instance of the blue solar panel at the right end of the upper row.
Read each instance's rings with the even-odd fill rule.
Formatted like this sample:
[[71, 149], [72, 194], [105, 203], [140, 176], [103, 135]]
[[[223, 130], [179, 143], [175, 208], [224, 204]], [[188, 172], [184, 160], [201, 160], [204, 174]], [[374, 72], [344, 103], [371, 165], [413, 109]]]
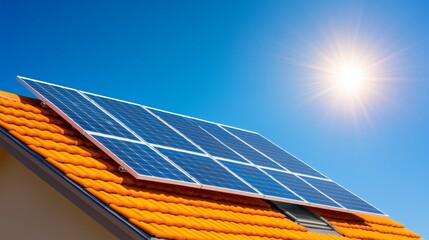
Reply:
[[276, 146], [275, 144], [268, 141], [266, 138], [262, 137], [257, 133], [247, 132], [231, 127], [222, 127], [227, 129], [235, 136], [239, 137], [241, 140], [250, 144], [252, 147], [258, 149], [260, 152], [264, 153], [272, 160], [276, 161], [278, 164], [287, 168], [291, 172], [325, 178], [325, 176], [321, 175], [307, 164], [290, 155], [289, 153], [287, 153], [286, 151], [279, 148], [278, 146]]

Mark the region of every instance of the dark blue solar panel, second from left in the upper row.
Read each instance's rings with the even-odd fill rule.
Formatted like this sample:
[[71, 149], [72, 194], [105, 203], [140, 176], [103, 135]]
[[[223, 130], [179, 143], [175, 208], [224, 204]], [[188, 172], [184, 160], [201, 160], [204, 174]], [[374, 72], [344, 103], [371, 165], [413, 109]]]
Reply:
[[194, 152], [201, 151], [140, 105], [86, 94], [145, 141]]

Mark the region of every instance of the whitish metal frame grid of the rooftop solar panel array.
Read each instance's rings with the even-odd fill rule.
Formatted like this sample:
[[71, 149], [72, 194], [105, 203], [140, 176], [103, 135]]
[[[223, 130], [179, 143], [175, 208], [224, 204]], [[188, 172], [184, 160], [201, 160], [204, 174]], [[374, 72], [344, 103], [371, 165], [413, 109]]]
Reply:
[[[198, 119], [198, 118], [193, 118], [193, 117], [189, 117], [189, 116], [185, 116], [185, 115], [180, 115], [180, 114], [176, 114], [176, 113], [171, 113], [174, 115], [179, 115], [182, 116], [186, 119], [188, 119], [191, 123], [193, 123], [193, 121], [191, 121], [192, 119], [196, 119], [198, 121], [203, 121], [203, 122], [208, 122], [208, 123], [212, 123], [212, 124], [216, 124], [218, 126], [220, 126], [222, 129], [224, 129], [225, 131], [229, 132], [227, 130], [227, 128], [233, 128], [233, 129], [237, 129], [240, 131], [244, 131], [244, 132], [248, 132], [248, 133], [253, 133], [256, 134], [260, 137], [262, 137], [263, 139], [265, 139], [266, 141], [268, 141], [269, 143], [273, 144], [274, 146], [276, 146], [277, 148], [279, 148], [280, 150], [286, 152], [287, 154], [291, 155], [292, 157], [296, 158], [298, 161], [300, 161], [301, 163], [305, 164], [306, 166], [308, 166], [310, 169], [313, 169], [314, 171], [318, 172], [321, 176], [323, 176], [324, 178], [320, 178], [320, 177], [315, 177], [312, 175], [306, 175], [306, 174], [301, 174], [301, 173], [295, 173], [295, 172], [291, 172], [286, 168], [281, 168], [280, 170], [287, 172], [289, 174], [295, 175], [297, 176], [299, 179], [307, 182], [305, 179], [306, 178], [310, 178], [310, 179], [316, 179], [318, 181], [327, 181], [327, 182], [332, 182], [338, 186], [340, 186], [341, 188], [345, 189], [347, 192], [349, 192], [350, 194], [352, 194], [353, 196], [357, 197], [359, 200], [363, 201], [364, 203], [368, 204], [370, 207], [372, 207], [373, 209], [375, 209], [376, 211], [361, 211], [358, 209], [353, 209], [353, 208], [336, 208], [336, 207], [330, 207], [330, 206], [324, 206], [324, 205], [317, 205], [311, 202], [308, 202], [305, 200], [305, 198], [303, 198], [302, 196], [300, 196], [299, 194], [296, 194], [294, 191], [292, 191], [290, 188], [288, 188], [287, 186], [279, 183], [278, 180], [276, 180], [274, 177], [270, 176], [269, 174], [267, 174], [265, 172], [265, 170], [267, 169], [272, 169], [272, 170], [279, 170], [276, 168], [270, 168], [270, 167], [264, 167], [264, 166], [256, 166], [253, 165], [253, 163], [244, 163], [244, 162], [239, 162], [239, 161], [234, 161], [234, 160], [230, 160], [230, 159], [222, 159], [222, 158], [218, 158], [218, 157], [213, 157], [210, 154], [207, 154], [204, 150], [203, 152], [205, 154], [199, 154], [199, 155], [206, 155], [206, 157], [211, 158], [212, 160], [218, 162], [220, 165], [222, 165], [223, 167], [226, 167], [225, 165], [223, 165], [224, 162], [230, 162], [230, 163], [234, 163], [234, 164], [243, 164], [243, 165], [248, 165], [248, 166], [253, 166], [254, 168], [258, 169], [259, 171], [261, 171], [262, 173], [264, 173], [265, 175], [267, 175], [268, 177], [270, 177], [271, 179], [273, 179], [275, 182], [279, 183], [279, 185], [283, 186], [285, 189], [287, 189], [289, 192], [294, 193], [298, 198], [302, 199], [303, 201], [295, 201], [293, 199], [288, 199], [288, 198], [282, 198], [282, 197], [276, 197], [276, 196], [270, 196], [270, 195], [264, 195], [261, 194], [260, 191], [255, 188], [252, 184], [248, 183], [245, 179], [242, 179], [240, 176], [238, 176], [238, 174], [233, 173], [233, 175], [235, 175], [236, 177], [238, 177], [242, 182], [247, 183], [250, 187], [252, 187], [254, 190], [256, 190], [258, 193], [257, 194], [253, 194], [253, 193], [245, 193], [242, 191], [235, 191], [233, 189], [225, 189], [225, 188], [219, 188], [216, 186], [210, 186], [210, 185], [206, 185], [206, 184], [201, 184], [200, 182], [198, 182], [193, 176], [191, 176], [188, 172], [186, 172], [184, 169], [180, 168], [179, 166], [177, 166], [174, 161], [171, 161], [170, 159], [168, 159], [168, 157], [164, 156], [162, 153], [160, 153], [158, 151], [157, 148], [164, 148], [164, 149], [171, 149], [171, 150], [179, 150], [179, 149], [175, 149], [175, 148], [171, 148], [168, 146], [162, 146], [159, 145], [157, 146], [156, 144], [150, 144], [147, 143], [144, 139], [142, 139], [140, 136], [138, 136], [135, 132], [133, 132], [131, 129], [129, 129], [124, 123], [122, 123], [120, 120], [118, 120], [117, 118], [115, 118], [114, 116], [112, 116], [108, 111], [104, 110], [102, 107], [100, 107], [99, 105], [97, 105], [92, 99], [90, 99], [89, 97], [87, 97], [85, 95], [86, 92], [83, 91], [79, 91], [73, 88], [68, 88], [68, 87], [64, 87], [64, 86], [60, 86], [60, 85], [56, 85], [56, 84], [51, 84], [51, 83], [46, 83], [43, 81], [39, 81], [39, 80], [34, 80], [34, 79], [30, 79], [30, 78], [25, 78], [25, 77], [17, 77], [18, 81], [21, 82], [25, 87], [27, 87], [34, 95], [36, 95], [39, 99], [41, 99], [42, 101], [46, 102], [48, 104], [48, 106], [50, 106], [53, 110], [55, 110], [55, 112], [57, 112], [61, 117], [63, 117], [65, 120], [67, 120], [74, 128], [76, 128], [80, 133], [82, 133], [85, 137], [87, 137], [91, 142], [93, 142], [97, 147], [99, 147], [101, 150], [103, 150], [105, 153], [107, 153], [110, 157], [112, 157], [116, 162], [118, 162], [118, 164], [124, 166], [125, 170], [127, 172], [129, 172], [131, 175], [133, 175], [135, 178], [137, 179], [144, 179], [144, 180], [149, 180], [149, 181], [157, 181], [157, 182], [164, 182], [164, 183], [170, 183], [170, 184], [177, 184], [177, 185], [182, 185], [182, 186], [188, 186], [188, 187], [192, 187], [192, 188], [205, 188], [205, 189], [210, 189], [210, 190], [214, 190], [214, 191], [220, 191], [220, 192], [227, 192], [227, 193], [235, 193], [235, 194], [239, 194], [239, 195], [246, 195], [246, 196], [251, 196], [251, 197], [257, 197], [257, 198], [264, 198], [264, 199], [268, 199], [268, 200], [275, 200], [275, 201], [283, 201], [283, 202], [289, 202], [289, 203], [295, 203], [295, 204], [299, 204], [299, 205], [313, 205], [313, 206], [320, 206], [326, 209], [335, 209], [337, 211], [344, 211], [344, 212], [363, 212], [363, 213], [368, 213], [368, 214], [373, 214], [373, 215], [381, 215], [381, 216], [387, 216], [385, 213], [383, 213], [382, 211], [380, 211], [379, 209], [375, 208], [373, 205], [369, 204], [368, 202], [366, 202], [365, 200], [363, 200], [362, 198], [360, 198], [359, 196], [357, 196], [356, 194], [354, 194], [353, 192], [349, 191], [348, 189], [342, 187], [341, 185], [339, 185], [338, 183], [332, 181], [329, 178], [326, 178], [323, 174], [321, 174], [320, 172], [318, 172], [316, 169], [312, 168], [311, 166], [309, 166], [307, 163], [305, 163], [304, 161], [301, 161], [299, 158], [295, 157], [294, 155], [290, 154], [288, 151], [284, 150], [283, 148], [281, 148], [280, 146], [276, 145], [275, 143], [273, 143], [271, 140], [267, 139], [266, 137], [260, 135], [259, 133], [253, 132], [253, 131], [248, 131], [248, 130], [244, 130], [244, 129], [240, 129], [240, 128], [236, 128], [236, 127], [232, 127], [232, 126], [227, 126], [224, 124], [218, 124], [218, 123], [213, 123], [210, 121], [206, 121], [206, 120], [202, 120], [202, 119]], [[127, 130], [128, 132], [130, 132], [136, 139], [129, 139], [129, 138], [124, 138], [124, 137], [120, 137], [120, 136], [112, 136], [109, 134], [103, 134], [103, 133], [97, 133], [97, 132], [92, 132], [89, 130], [85, 130], [83, 129], [78, 123], [76, 123], [72, 118], [69, 118], [64, 112], [62, 112], [61, 109], [59, 109], [58, 107], [55, 106], [55, 104], [51, 103], [48, 99], [46, 99], [43, 94], [39, 94], [37, 91], [35, 91], [34, 89], [32, 89], [31, 86], [29, 86], [25, 81], [33, 81], [33, 82], [39, 82], [41, 84], [47, 84], [47, 85], [51, 85], [51, 86], [55, 86], [58, 88], [63, 88], [63, 89], [68, 89], [71, 91], [75, 91], [78, 94], [82, 95], [84, 98], [86, 98], [86, 100], [88, 100], [91, 104], [93, 104], [96, 108], [98, 108], [99, 110], [101, 110], [103, 113], [105, 113], [107, 116], [109, 116], [114, 122], [116, 122], [117, 124], [119, 124], [120, 126], [124, 127], [125, 130]], [[88, 93], [88, 94], [92, 94], [92, 93]], [[96, 95], [96, 94], [93, 94]], [[102, 96], [105, 97], [105, 96]], [[117, 100], [117, 99], [115, 99]], [[119, 100], [122, 101], [122, 100]], [[125, 101], [123, 101], [125, 102]], [[127, 102], [128, 103], [128, 102]], [[133, 104], [133, 103], [130, 103]], [[139, 104], [135, 104], [135, 105], [139, 105]], [[143, 105], [140, 105], [141, 107], [143, 107], [144, 109], [154, 109], [151, 107], [146, 107]], [[164, 110], [160, 110], [160, 109], [156, 109], [162, 112], [167, 112]], [[154, 116], [157, 116], [156, 114], [152, 113], [151, 111], [148, 111], [149, 113], [151, 113]], [[170, 113], [170, 112], [168, 112]], [[162, 121], [163, 123], [165, 123], [166, 125], [168, 125], [170, 128], [172, 128], [173, 130], [175, 130], [177, 133], [179, 133], [181, 136], [183, 136], [185, 139], [187, 139], [188, 141], [190, 141], [192, 144], [194, 144], [197, 148], [200, 148], [198, 145], [196, 145], [195, 143], [193, 143], [190, 139], [187, 138], [187, 136], [185, 136], [183, 133], [181, 133], [179, 130], [175, 129], [174, 127], [170, 126], [168, 123], [166, 123], [165, 121], [163, 121], [161, 118], [159, 118], [160, 121]], [[199, 126], [198, 126], [199, 127]], [[201, 128], [202, 129], [202, 128]], [[205, 131], [204, 129], [202, 129], [203, 131]], [[209, 132], [205, 131], [207, 134], [209, 134], [210, 136], [214, 137], [213, 135], [211, 135]], [[230, 132], [229, 132], [230, 133]], [[243, 143], [247, 144], [248, 146], [252, 147], [253, 149], [255, 149], [256, 151], [260, 152], [258, 149], [254, 148], [252, 145], [248, 144], [247, 142], [243, 141], [241, 138], [239, 138], [238, 136], [230, 133], [232, 136], [236, 137], [237, 139], [239, 139], [240, 141], [242, 141]], [[185, 174], [186, 176], [188, 176], [193, 183], [190, 182], [185, 182], [185, 181], [177, 181], [177, 180], [171, 180], [171, 179], [166, 179], [166, 178], [156, 178], [156, 177], [145, 177], [144, 175], [139, 175], [135, 172], [135, 170], [133, 170], [131, 167], [127, 166], [126, 164], [124, 165], [124, 161], [121, 161], [121, 159], [119, 159], [119, 157], [117, 157], [115, 154], [113, 154], [108, 148], [106, 148], [102, 143], [100, 143], [95, 137], [96, 136], [101, 136], [101, 137], [109, 137], [109, 138], [113, 138], [113, 139], [117, 139], [117, 140], [121, 140], [121, 141], [128, 141], [128, 142], [135, 142], [138, 144], [142, 144], [145, 146], [148, 146], [150, 149], [154, 150], [158, 155], [160, 155], [163, 159], [165, 159], [167, 162], [172, 163], [180, 172], [182, 172], [183, 174]], [[215, 137], [214, 137], [215, 138]], [[218, 140], [217, 138], [215, 138], [216, 140]], [[225, 143], [223, 143], [222, 141], [218, 140], [220, 143], [222, 143], [223, 145], [225, 145], [228, 149], [232, 150], [234, 153], [237, 154], [237, 152], [235, 152], [233, 149], [231, 149], [230, 147], [228, 147]], [[191, 154], [196, 154], [194, 152], [191, 151], [187, 151], [187, 150], [179, 150], [179, 151], [183, 151], [183, 152], [188, 152]], [[263, 152], [260, 152], [261, 154], [265, 155]], [[198, 154], [196, 154], [198, 155]], [[237, 154], [240, 157], [242, 157], [240, 154]], [[265, 155], [266, 156], [266, 155]], [[267, 156], [268, 157], [268, 156]], [[245, 158], [243, 158], [245, 159]], [[245, 159], [246, 160], [246, 159]], [[275, 162], [275, 161], [274, 161]], [[281, 166], [281, 165], [280, 165]], [[230, 171], [231, 172], [231, 171]], [[311, 185], [309, 182], [307, 182], [309, 185]], [[313, 185], [311, 185], [313, 186]], [[314, 188], [316, 188], [318, 191], [321, 191], [320, 189], [318, 189], [317, 187], [313, 186]]]

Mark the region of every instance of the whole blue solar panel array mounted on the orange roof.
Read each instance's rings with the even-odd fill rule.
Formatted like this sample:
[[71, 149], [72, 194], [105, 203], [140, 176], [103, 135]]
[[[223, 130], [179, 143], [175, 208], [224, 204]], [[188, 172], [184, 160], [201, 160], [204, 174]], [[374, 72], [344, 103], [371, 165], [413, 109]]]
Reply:
[[384, 215], [258, 133], [18, 80], [138, 179]]

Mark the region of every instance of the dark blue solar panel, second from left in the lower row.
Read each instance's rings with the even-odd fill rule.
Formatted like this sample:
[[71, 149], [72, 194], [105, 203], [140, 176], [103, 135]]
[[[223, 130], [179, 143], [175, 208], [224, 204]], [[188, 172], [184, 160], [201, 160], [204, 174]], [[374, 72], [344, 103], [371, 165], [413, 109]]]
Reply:
[[211, 158], [162, 148], [158, 150], [203, 185], [256, 193]]

